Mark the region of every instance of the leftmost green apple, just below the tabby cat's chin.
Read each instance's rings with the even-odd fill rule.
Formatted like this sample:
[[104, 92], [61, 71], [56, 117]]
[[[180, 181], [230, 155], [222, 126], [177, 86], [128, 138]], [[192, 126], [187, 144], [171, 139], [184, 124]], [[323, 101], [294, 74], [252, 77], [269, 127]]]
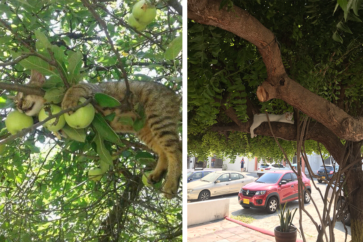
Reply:
[[5, 126], [8, 131], [15, 135], [23, 128], [29, 128], [34, 124], [33, 118], [17, 110], [11, 111], [5, 119]]

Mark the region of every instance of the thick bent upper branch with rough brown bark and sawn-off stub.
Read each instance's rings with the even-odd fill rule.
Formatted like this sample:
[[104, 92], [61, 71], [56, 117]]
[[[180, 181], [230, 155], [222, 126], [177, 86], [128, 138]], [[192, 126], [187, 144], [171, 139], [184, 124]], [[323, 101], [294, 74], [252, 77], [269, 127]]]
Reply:
[[219, 6], [220, 1], [217, 0], [188, 0], [188, 18], [217, 26], [256, 45], [268, 73], [268, 78], [262, 82], [267, 93], [263, 101], [282, 99], [322, 123], [341, 139], [363, 139], [363, 117], [348, 115], [287, 76], [276, 37], [269, 29], [241, 8], [234, 6], [235, 13], [232, 13], [226, 8], [219, 11]]

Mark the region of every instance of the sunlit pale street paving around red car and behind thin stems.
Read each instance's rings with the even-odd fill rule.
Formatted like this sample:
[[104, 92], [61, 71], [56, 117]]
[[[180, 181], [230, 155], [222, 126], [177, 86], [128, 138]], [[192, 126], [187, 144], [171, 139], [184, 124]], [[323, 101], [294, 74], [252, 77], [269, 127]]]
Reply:
[[[247, 175], [253, 175], [253, 174], [255, 174], [255, 176], [257, 176], [256, 173], [250, 173]], [[317, 183], [316, 179], [314, 179], [314, 181], [315, 181], [315, 184], [317, 184], [317, 187], [320, 188], [322, 193], [324, 194], [325, 188], [326, 188], [325, 183]], [[310, 183], [311, 183], [311, 188], [313, 190], [311, 195], [312, 195], [315, 203], [317, 204], [317, 207], [319, 208], [319, 212], [322, 213], [324, 204], [321, 200], [321, 197], [320, 197], [318, 191], [315, 190], [312, 182], [310, 182]], [[211, 199], [219, 199], [219, 198], [224, 198], [224, 197], [229, 198], [229, 200], [230, 200], [229, 216], [231, 216], [231, 215], [237, 216], [237, 215], [242, 215], [242, 214], [252, 216], [253, 218], [256, 218], [256, 220], [254, 220], [252, 223], [250, 223], [251, 225], [273, 231], [274, 228], [280, 223], [277, 213], [268, 214], [267, 212], [265, 212], [264, 209], [254, 209], [254, 208], [244, 209], [244, 208], [242, 208], [241, 205], [238, 204], [237, 195], [238, 194], [236, 193], [236, 194], [231, 194], [231, 195], [213, 197]], [[298, 203], [298, 201], [292, 201], [292, 202], [288, 202], [286, 206], [289, 207], [291, 210], [291, 209], [299, 208], [299, 203]], [[320, 224], [318, 213], [315, 210], [313, 202], [310, 201], [309, 204], [307, 204], [307, 205], [305, 204], [305, 209], [307, 210], [307, 212], [309, 212], [311, 214], [311, 216], [314, 218], [314, 220], [317, 221], [318, 224]], [[294, 216], [294, 220], [293, 220], [293, 224], [296, 225], [297, 227], [299, 227], [299, 218], [300, 218], [299, 211], [297, 211]], [[307, 241], [316, 241], [317, 234], [318, 234], [316, 227], [313, 224], [313, 222], [311, 222], [310, 218], [304, 212], [302, 212], [302, 225], [303, 225], [303, 230], [304, 230], [306, 240]], [[348, 231], [347, 241], [350, 241], [351, 240], [350, 226], [346, 226], [346, 228]], [[335, 224], [334, 234], [335, 234], [335, 241], [344, 241], [345, 240], [345, 230], [344, 230], [344, 226], [343, 226], [342, 222], [337, 222]], [[298, 238], [302, 239], [300, 237], [300, 235], [298, 235]]]

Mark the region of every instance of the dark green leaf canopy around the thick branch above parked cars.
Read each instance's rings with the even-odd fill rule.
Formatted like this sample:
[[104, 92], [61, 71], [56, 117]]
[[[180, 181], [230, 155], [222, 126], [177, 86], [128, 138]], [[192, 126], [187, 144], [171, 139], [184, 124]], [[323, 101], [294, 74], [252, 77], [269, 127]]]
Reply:
[[[356, 15], [362, 7], [360, 1], [354, 2], [354, 9], [338, 4], [336, 8], [335, 3], [325, 1], [233, 4], [246, 9], [273, 32], [286, 73], [292, 79], [348, 114], [358, 116], [362, 110], [363, 30], [361, 18]], [[222, 1], [221, 7], [228, 3]], [[233, 14], [232, 7], [230, 15]], [[249, 134], [213, 130], [236, 122], [226, 114], [228, 108], [242, 123], [252, 122], [253, 112], [248, 112], [248, 106], [273, 114], [294, 111], [281, 99], [258, 101], [257, 87], [266, 78], [266, 65], [255, 45], [232, 32], [188, 20], [188, 152], [198, 156], [241, 153], [282, 157], [271, 137], [251, 139]], [[317, 142], [309, 142], [310, 152], [317, 152]], [[294, 155], [294, 141], [280, 143], [289, 156]], [[266, 151], [261, 148], [265, 146]]]

